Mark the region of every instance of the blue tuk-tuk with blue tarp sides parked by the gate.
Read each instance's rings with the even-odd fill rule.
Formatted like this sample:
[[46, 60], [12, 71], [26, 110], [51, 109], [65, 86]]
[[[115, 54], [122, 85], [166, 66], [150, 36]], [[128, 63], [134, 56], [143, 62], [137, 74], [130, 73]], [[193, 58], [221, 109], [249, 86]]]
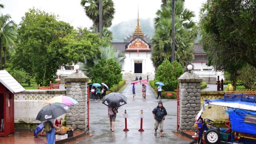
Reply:
[[[228, 128], [213, 125], [210, 119], [203, 119], [205, 106], [222, 106], [228, 112]], [[203, 108], [196, 116], [196, 134], [190, 144], [256, 144], [256, 96], [225, 94], [224, 99], [204, 100]]]

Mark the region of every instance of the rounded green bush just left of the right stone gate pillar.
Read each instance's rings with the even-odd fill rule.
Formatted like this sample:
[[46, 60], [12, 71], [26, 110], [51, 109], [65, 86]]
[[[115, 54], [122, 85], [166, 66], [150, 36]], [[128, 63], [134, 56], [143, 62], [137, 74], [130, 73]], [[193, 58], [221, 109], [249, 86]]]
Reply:
[[181, 64], [179, 64], [176, 60], [174, 60], [172, 64], [169, 60], [165, 60], [160, 66], [158, 66], [154, 82], [163, 82], [165, 86], [162, 88], [165, 91], [174, 91], [178, 86], [177, 78], [183, 73], [184, 70]]

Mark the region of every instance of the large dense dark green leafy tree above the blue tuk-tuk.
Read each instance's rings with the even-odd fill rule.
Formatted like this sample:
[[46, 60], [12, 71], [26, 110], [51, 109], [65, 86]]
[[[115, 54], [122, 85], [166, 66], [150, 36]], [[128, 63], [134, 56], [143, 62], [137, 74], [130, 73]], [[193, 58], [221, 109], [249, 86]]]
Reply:
[[[208, 65], [231, 75], [245, 63], [256, 67], [255, 7], [255, 0], [207, 0], [202, 5], [201, 42]], [[235, 85], [236, 76], [232, 80]]]

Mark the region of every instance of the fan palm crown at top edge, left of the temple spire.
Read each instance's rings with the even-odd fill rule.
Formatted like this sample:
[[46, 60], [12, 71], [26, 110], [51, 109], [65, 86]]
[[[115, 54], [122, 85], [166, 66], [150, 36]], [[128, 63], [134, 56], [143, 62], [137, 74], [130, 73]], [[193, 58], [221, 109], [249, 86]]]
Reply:
[[[96, 32], [99, 32], [100, 15], [99, 0], [81, 0], [81, 6], [84, 7], [86, 16], [93, 22]], [[102, 27], [110, 27], [114, 18], [115, 8], [112, 0], [102, 0]]]

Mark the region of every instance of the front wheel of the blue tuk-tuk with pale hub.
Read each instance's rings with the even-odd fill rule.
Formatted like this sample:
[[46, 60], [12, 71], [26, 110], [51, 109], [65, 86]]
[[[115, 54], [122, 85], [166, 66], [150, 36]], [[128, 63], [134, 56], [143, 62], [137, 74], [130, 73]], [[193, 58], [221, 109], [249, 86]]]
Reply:
[[218, 130], [207, 130], [204, 133], [204, 140], [207, 144], [220, 144], [220, 132]]

